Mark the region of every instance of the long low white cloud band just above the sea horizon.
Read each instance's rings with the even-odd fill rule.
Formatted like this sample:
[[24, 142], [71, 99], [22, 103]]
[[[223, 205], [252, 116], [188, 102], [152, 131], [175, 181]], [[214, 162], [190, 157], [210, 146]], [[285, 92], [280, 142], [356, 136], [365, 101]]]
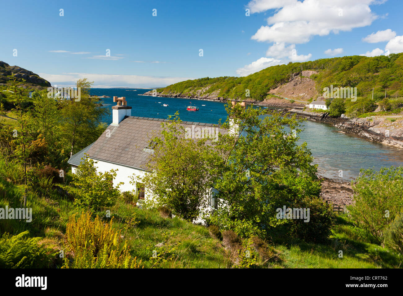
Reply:
[[53, 75], [47, 73], [38, 73], [40, 77], [46, 79], [52, 85], [60, 87], [73, 87], [78, 79], [88, 78], [89, 81], [95, 81], [94, 87], [163, 87], [195, 77], [156, 77], [139, 75], [110, 75], [110, 74], [90, 74], [90, 73], [63, 73]]

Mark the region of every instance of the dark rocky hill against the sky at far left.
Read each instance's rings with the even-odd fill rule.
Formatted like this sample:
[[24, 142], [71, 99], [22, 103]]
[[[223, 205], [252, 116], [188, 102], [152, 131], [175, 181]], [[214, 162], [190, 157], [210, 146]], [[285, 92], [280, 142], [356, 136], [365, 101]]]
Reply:
[[29, 70], [19, 66], [10, 66], [6, 62], [0, 61], [0, 85], [10, 85], [12, 74], [14, 74], [16, 81], [22, 82], [23, 79], [25, 80], [25, 85], [22, 86], [23, 88], [42, 89], [51, 86], [49, 81]]

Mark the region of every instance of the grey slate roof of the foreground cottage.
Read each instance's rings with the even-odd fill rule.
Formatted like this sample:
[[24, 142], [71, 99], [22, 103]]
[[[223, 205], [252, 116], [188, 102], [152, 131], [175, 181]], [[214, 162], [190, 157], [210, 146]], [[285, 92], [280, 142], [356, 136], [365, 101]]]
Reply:
[[[143, 149], [148, 146], [153, 132], [162, 130], [161, 123], [168, 121], [161, 118], [129, 116], [118, 126], [113, 124], [108, 126], [98, 140], [91, 144], [87, 154], [91, 158], [144, 170], [149, 153]], [[218, 127], [220, 133], [228, 132], [216, 124], [183, 121], [181, 125], [185, 128], [191, 128], [192, 125], [200, 128]]]

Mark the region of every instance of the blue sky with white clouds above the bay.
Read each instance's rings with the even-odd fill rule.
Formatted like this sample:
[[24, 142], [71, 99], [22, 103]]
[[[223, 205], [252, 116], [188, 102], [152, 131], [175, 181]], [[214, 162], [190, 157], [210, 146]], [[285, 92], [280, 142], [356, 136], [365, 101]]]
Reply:
[[403, 52], [400, 0], [2, 2], [0, 60], [60, 87], [82, 77], [95, 87], [162, 87]]

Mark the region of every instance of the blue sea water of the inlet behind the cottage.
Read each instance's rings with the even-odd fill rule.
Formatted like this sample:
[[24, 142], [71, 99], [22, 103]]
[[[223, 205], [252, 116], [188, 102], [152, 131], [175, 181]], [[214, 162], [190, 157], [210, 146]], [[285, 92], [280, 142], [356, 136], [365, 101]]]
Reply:
[[[224, 104], [215, 101], [202, 101], [195, 99], [163, 98], [141, 96], [149, 89], [91, 89], [91, 95], [108, 95], [111, 98], [103, 99], [104, 107], [110, 108], [113, 96], [126, 97], [127, 104], [131, 106], [132, 116], [153, 118], [168, 118], [179, 110], [179, 117], [183, 121], [218, 123], [226, 120]], [[158, 103], [161, 102], [161, 103]], [[199, 111], [187, 111], [191, 102], [198, 106]], [[162, 106], [163, 103], [168, 107]], [[206, 105], [206, 106], [202, 106]], [[110, 124], [112, 113], [104, 118]], [[314, 163], [318, 164], [321, 176], [336, 180], [352, 180], [359, 174], [360, 168], [374, 168], [379, 170], [385, 166], [403, 166], [403, 151], [383, 144], [372, 143], [352, 135], [339, 133], [339, 129], [330, 124], [305, 121], [305, 130], [301, 132], [300, 142], [307, 142], [308, 148], [314, 156]], [[340, 177], [340, 170], [343, 177]]]

